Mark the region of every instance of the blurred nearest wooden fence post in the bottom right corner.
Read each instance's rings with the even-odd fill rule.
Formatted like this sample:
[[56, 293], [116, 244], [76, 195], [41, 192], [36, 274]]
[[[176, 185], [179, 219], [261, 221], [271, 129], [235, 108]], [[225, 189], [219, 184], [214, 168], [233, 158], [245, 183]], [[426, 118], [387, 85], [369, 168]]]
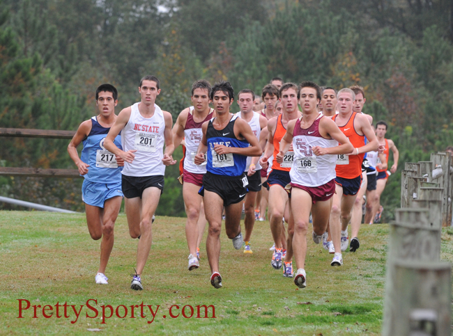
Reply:
[[450, 336], [451, 274], [448, 262], [395, 262], [383, 335]]

